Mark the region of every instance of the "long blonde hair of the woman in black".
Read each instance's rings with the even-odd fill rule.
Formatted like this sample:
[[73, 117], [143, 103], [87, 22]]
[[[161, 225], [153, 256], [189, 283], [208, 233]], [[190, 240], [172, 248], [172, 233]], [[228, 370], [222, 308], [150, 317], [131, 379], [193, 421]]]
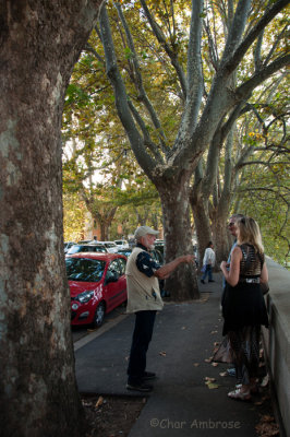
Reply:
[[257, 222], [252, 217], [242, 217], [237, 222], [238, 226], [238, 244], [250, 244], [254, 246], [258, 253], [264, 252], [262, 235]]

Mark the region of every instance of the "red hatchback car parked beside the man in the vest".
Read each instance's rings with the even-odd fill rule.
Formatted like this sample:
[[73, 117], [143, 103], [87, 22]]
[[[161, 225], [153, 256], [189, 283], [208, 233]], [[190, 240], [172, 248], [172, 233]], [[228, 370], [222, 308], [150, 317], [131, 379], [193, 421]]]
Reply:
[[71, 324], [99, 327], [106, 314], [126, 300], [126, 258], [118, 253], [74, 253], [65, 258], [71, 291]]

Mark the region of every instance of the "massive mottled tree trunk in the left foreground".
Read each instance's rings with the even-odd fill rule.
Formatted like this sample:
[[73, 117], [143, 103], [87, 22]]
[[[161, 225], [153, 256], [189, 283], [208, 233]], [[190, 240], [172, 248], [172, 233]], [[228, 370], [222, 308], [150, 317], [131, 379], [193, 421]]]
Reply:
[[3, 436], [84, 435], [63, 257], [60, 128], [65, 87], [98, 4], [1, 2]]

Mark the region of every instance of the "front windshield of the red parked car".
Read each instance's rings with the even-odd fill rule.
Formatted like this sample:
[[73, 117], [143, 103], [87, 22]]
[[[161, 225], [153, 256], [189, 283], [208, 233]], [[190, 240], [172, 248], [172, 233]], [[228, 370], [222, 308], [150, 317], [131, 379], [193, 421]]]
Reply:
[[67, 275], [69, 281], [100, 281], [106, 261], [87, 258], [67, 258]]

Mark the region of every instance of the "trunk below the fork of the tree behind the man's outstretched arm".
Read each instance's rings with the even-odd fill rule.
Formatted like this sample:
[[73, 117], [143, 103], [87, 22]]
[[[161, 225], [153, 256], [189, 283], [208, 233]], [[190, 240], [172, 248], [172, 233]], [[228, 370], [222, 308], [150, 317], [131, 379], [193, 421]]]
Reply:
[[[157, 184], [161, 199], [165, 233], [165, 261], [193, 253], [190, 204], [188, 184]], [[192, 264], [180, 264], [166, 280], [165, 290], [172, 300], [198, 298], [196, 268]]]

